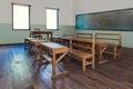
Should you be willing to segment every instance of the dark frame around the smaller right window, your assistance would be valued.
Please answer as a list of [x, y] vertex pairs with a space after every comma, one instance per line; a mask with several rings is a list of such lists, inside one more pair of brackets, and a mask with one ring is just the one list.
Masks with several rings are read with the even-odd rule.
[[[51, 31], [59, 30], [60, 29], [60, 27], [59, 27], [59, 11], [60, 11], [60, 9], [45, 7], [45, 17], [47, 17], [47, 9], [57, 10], [57, 29], [48, 29], [47, 28], [47, 22], [45, 22], [45, 29], [51, 30]], [[47, 18], [45, 18], [45, 20], [47, 20]]]

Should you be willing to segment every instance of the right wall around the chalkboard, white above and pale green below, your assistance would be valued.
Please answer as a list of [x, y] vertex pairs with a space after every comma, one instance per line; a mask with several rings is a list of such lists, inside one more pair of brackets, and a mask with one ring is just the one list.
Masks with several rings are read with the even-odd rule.
[[[91, 13], [119, 9], [133, 8], [133, 0], [75, 0], [73, 2], [74, 14]], [[122, 34], [122, 46], [133, 48], [133, 31], [102, 31], [102, 30], [75, 30], [76, 32], [112, 32]]]

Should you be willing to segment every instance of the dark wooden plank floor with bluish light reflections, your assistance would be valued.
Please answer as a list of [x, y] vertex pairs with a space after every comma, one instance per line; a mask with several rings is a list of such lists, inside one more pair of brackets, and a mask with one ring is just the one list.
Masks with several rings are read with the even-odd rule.
[[85, 72], [76, 60], [66, 60], [60, 67], [69, 77], [51, 81], [51, 65], [32, 66], [23, 44], [0, 47], [0, 89], [133, 89], [133, 49], [123, 49], [122, 59], [89, 67]]

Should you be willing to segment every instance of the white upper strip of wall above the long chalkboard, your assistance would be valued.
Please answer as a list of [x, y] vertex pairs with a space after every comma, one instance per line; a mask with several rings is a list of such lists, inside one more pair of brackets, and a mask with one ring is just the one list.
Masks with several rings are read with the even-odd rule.
[[74, 13], [90, 13], [133, 8], [133, 0], [76, 0]]

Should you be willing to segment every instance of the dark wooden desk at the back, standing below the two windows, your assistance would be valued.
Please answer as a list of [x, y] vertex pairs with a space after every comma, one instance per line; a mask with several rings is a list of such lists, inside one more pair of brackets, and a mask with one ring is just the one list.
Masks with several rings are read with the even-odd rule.
[[30, 31], [30, 37], [34, 38], [35, 34], [47, 34], [45, 39], [52, 38], [52, 31]]

